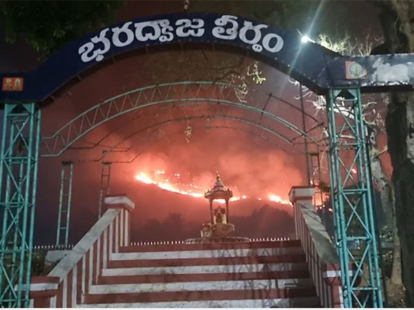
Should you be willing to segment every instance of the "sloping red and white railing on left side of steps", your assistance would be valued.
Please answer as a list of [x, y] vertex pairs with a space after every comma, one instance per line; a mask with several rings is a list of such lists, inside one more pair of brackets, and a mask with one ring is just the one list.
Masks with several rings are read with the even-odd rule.
[[105, 203], [105, 214], [48, 276], [32, 277], [31, 307], [71, 308], [83, 303], [112, 253], [130, 244], [130, 211], [134, 203], [126, 196], [108, 196]]

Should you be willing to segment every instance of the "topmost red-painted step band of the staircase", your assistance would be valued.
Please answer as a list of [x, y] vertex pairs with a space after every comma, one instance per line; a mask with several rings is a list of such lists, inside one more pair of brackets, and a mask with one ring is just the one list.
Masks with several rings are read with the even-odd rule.
[[169, 244], [169, 245], [129, 245], [120, 247], [120, 252], [149, 252], [149, 251], [190, 251], [202, 249], [257, 249], [258, 247], [300, 247], [300, 240], [287, 241], [256, 241], [233, 243], [204, 243], [199, 245]]

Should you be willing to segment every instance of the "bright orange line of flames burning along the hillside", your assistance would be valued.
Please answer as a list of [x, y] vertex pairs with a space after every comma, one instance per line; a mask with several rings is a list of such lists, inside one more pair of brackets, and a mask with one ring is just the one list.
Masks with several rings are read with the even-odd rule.
[[[171, 183], [170, 180], [165, 176], [166, 172], [163, 170], [157, 170], [154, 172], [155, 176], [151, 177], [150, 174], [146, 173], [146, 172], [139, 172], [136, 176], [135, 176], [135, 180], [138, 180], [141, 183], [145, 183], [145, 184], [150, 184], [150, 185], [157, 185], [157, 187], [159, 187], [160, 189], [164, 189], [168, 192], [173, 192], [173, 193], [177, 193], [177, 194], [181, 194], [181, 195], [187, 195], [187, 196], [192, 196], [195, 198], [203, 198], [204, 197], [204, 192], [198, 191], [195, 192], [192, 189], [201, 189], [201, 187], [197, 186], [197, 185], [193, 185], [193, 184], [183, 184], [183, 183]], [[180, 174], [174, 174], [174, 176], [176, 178], [181, 178]], [[161, 178], [161, 180], [159, 180]], [[188, 189], [181, 189], [181, 187], [190, 187], [192, 189], [188, 190]], [[230, 198], [230, 201], [239, 201], [239, 200], [244, 200], [250, 198], [246, 195], [241, 195], [241, 196], [233, 196], [232, 198]], [[262, 200], [262, 198], [257, 198], [257, 200]], [[282, 199], [280, 196], [277, 196], [275, 194], [268, 194], [268, 200], [269, 201], [273, 201], [275, 203], [280, 203], [282, 205], [292, 205], [292, 203], [290, 203], [290, 201], [288, 200], [284, 200]], [[226, 203], [226, 201], [224, 199], [216, 199], [215, 200], [217, 203]]]

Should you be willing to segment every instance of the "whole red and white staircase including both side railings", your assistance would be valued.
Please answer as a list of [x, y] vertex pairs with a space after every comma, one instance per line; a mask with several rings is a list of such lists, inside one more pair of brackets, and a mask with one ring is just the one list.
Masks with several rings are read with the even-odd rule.
[[293, 187], [298, 240], [130, 245], [125, 195], [48, 276], [30, 280], [30, 305], [73, 307], [343, 307], [339, 260], [312, 205]]

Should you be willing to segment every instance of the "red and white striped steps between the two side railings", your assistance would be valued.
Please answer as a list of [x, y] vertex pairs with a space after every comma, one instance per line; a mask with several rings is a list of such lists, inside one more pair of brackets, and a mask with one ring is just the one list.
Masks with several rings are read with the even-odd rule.
[[299, 241], [121, 247], [79, 306], [320, 307]]

